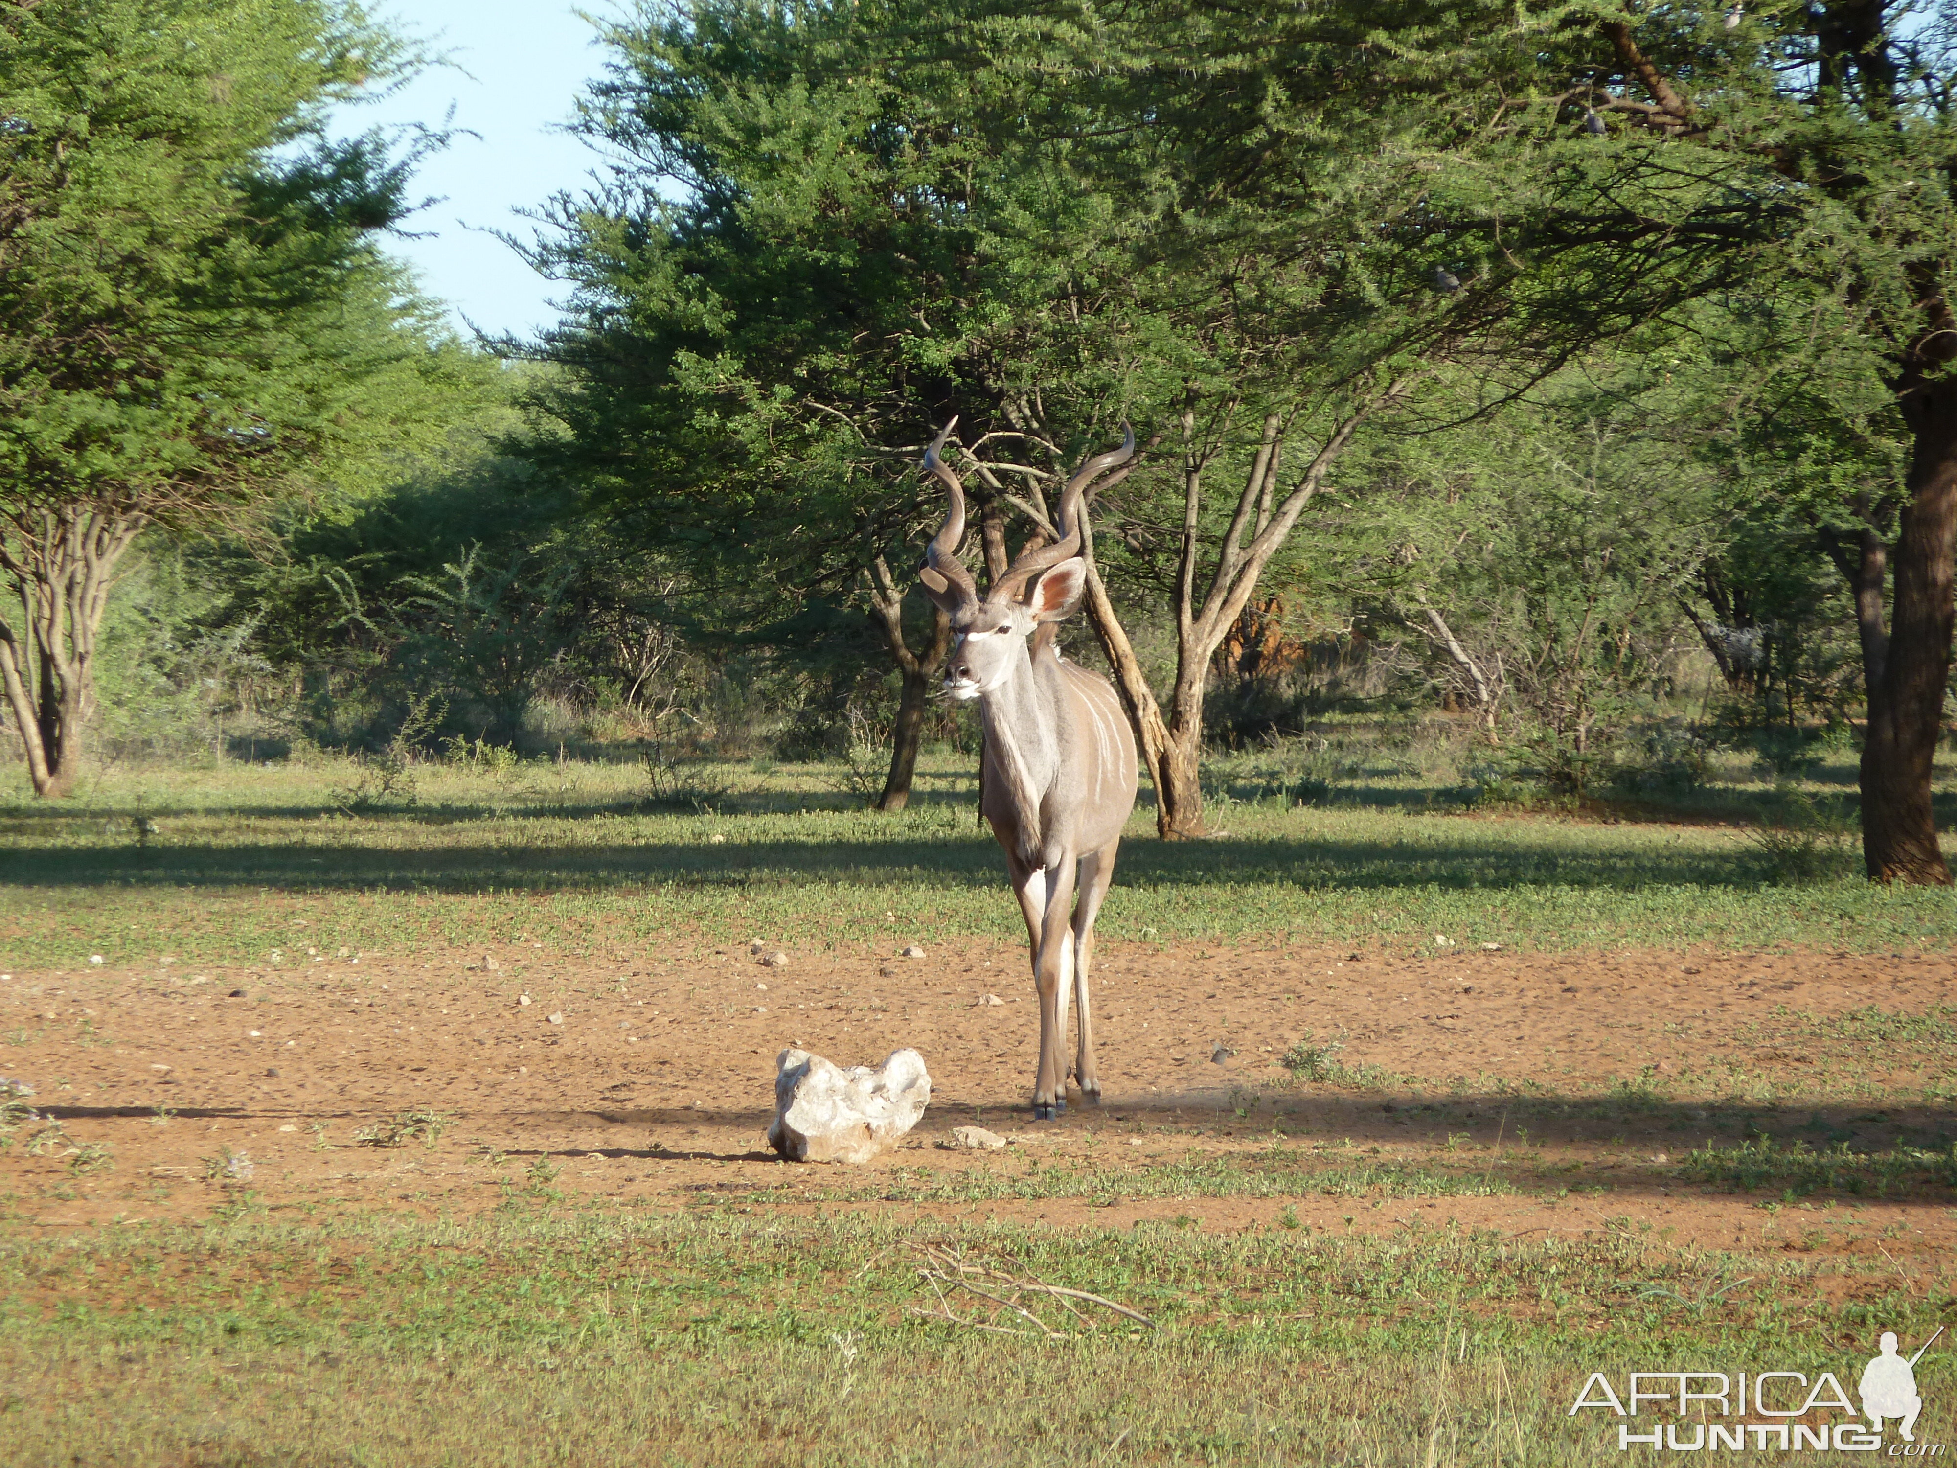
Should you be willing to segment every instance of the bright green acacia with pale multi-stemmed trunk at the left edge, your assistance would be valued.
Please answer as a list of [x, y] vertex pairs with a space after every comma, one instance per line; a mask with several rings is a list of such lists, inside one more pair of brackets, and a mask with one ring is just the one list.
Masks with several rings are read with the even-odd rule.
[[0, 2], [0, 685], [39, 795], [72, 789], [135, 538], [419, 397], [427, 321], [370, 245], [411, 157], [323, 131], [403, 61], [335, 0]]

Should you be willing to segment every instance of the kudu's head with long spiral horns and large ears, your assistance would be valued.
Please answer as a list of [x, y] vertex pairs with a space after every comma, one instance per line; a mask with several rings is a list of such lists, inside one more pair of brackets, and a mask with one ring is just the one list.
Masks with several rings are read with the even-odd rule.
[[939, 458], [945, 438], [957, 423], [951, 419], [924, 450], [924, 472], [945, 487], [949, 509], [945, 523], [924, 552], [924, 568], [918, 577], [924, 581], [924, 595], [951, 617], [957, 642], [945, 664], [945, 693], [965, 703], [990, 693], [1012, 677], [1033, 628], [1041, 622], [1059, 622], [1080, 603], [1080, 589], [1086, 585], [1088, 573], [1088, 566], [1080, 558], [1080, 527], [1086, 513], [1082, 497], [1096, 476], [1133, 458], [1135, 431], [1123, 425], [1119, 448], [1098, 454], [1074, 470], [1067, 487], [1061, 489], [1061, 503], [1053, 517], [1053, 528], [1061, 538], [1049, 546], [1022, 550], [1020, 558], [980, 601], [978, 585], [959, 562], [959, 540], [965, 538], [965, 485]]

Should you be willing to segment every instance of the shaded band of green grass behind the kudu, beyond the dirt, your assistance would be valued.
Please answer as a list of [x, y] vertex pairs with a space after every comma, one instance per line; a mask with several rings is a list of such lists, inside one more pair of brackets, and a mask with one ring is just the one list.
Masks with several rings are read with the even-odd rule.
[[[569, 763], [429, 765], [413, 804], [350, 816], [356, 777], [315, 757], [110, 771], [67, 803], [18, 795], [0, 806], [0, 947], [18, 965], [260, 963], [301, 918], [321, 947], [387, 951], [519, 934], [571, 951], [673, 934], [1020, 934], [959, 756], [928, 759], [898, 816], [849, 808], [824, 765], [708, 769], [703, 789], [728, 787], [714, 812], [650, 810], [634, 765]], [[1517, 949], [1957, 941], [1947, 891], [1781, 887], [1740, 830], [1462, 814], [1417, 775], [1331, 808], [1237, 801], [1213, 824], [1217, 840], [1162, 844], [1137, 810], [1102, 934], [1399, 951], [1433, 951], [1436, 934]]]

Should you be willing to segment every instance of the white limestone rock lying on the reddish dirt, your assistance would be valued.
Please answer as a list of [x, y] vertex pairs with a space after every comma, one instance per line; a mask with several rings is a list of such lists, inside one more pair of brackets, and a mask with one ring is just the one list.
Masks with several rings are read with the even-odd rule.
[[791, 1163], [867, 1163], [918, 1125], [932, 1077], [914, 1049], [847, 1071], [806, 1049], [775, 1061], [775, 1122], [767, 1145]]

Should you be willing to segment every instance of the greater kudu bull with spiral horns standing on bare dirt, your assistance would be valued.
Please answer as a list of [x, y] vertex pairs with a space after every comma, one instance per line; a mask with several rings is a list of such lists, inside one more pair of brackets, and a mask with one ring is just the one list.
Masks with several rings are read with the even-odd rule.
[[[1031, 938], [1039, 988], [1033, 1120], [1051, 1122], [1067, 1110], [1069, 990], [1080, 1000], [1074, 1078], [1084, 1102], [1100, 1102], [1088, 1004], [1094, 914], [1114, 881], [1114, 853], [1135, 808], [1139, 773], [1135, 740], [1114, 687], [1067, 662], [1053, 646], [1051, 624], [1074, 611], [1086, 581], [1082, 495], [1096, 476], [1135, 454], [1135, 435], [1127, 433], [1117, 450], [1080, 466], [1061, 491], [1053, 519], [1059, 540], [1022, 550], [980, 601], [971, 572], [957, 558], [965, 536], [965, 487], [939, 458], [955, 425], [951, 419], [924, 454], [926, 474], [945, 487], [949, 513], [918, 575], [957, 632], [945, 693], [977, 699], [984, 722], [980, 810], [1006, 848], [1006, 869]], [[1049, 630], [1035, 636], [1041, 626]]]

